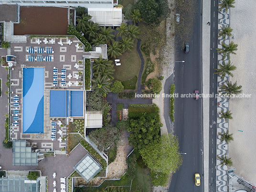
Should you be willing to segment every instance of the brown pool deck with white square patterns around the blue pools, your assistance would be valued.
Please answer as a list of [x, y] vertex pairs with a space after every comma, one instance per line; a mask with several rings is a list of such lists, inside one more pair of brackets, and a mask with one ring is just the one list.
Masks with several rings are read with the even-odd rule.
[[[85, 57], [85, 53], [83, 49], [75, 47], [77, 43], [80, 43], [80, 41], [77, 38], [53, 38], [55, 40], [54, 44], [44, 44], [43, 40], [44, 38], [39, 38], [42, 43], [37, 44], [35, 41], [38, 38], [32, 38], [27, 37], [26, 43], [11, 43], [11, 52], [8, 53], [9, 55], [16, 56], [17, 64], [14, 66], [14, 70], [11, 70], [11, 89], [13, 91], [13, 94], [11, 94], [11, 112], [12, 109], [15, 109], [15, 107], [12, 107], [13, 101], [12, 96], [18, 95], [19, 96], [19, 107], [16, 110], [19, 110], [19, 120], [18, 126], [12, 126], [10, 130], [10, 136], [11, 139], [27, 139], [31, 143], [32, 146], [37, 147], [38, 149], [56, 149], [60, 150], [65, 147], [65, 142], [62, 141], [61, 143], [57, 141], [57, 139], [60, 137], [60, 135], [56, 135], [56, 140], [51, 140], [51, 118], [54, 119], [54, 117], [50, 117], [50, 90], [83, 90], [83, 85], [75, 85], [75, 82], [82, 82], [81, 75], [79, 75], [78, 79], [74, 78], [75, 74], [83, 73], [84, 67], [83, 64], [79, 64], [78, 61], [83, 61], [83, 57]], [[49, 41], [51, 38], [48, 38]], [[62, 40], [63, 46], [58, 44]], [[67, 44], [67, 41], [70, 40], [73, 43], [71, 45]], [[26, 52], [28, 47], [34, 47], [35, 49], [37, 47], [50, 47], [53, 48], [54, 53], [47, 54], [47, 53], [28, 53]], [[37, 56], [37, 55], [51, 55], [53, 56], [53, 62], [30, 62], [27, 61], [27, 58], [29, 55]], [[78, 64], [78, 68], [75, 68], [75, 64]], [[44, 133], [37, 134], [37, 133], [22, 133], [22, 77], [23, 77], [23, 68], [26, 67], [42, 67], [44, 68]], [[53, 67], [58, 68], [58, 86], [53, 86]], [[61, 69], [66, 68], [66, 76], [71, 74], [72, 77], [69, 79], [66, 77], [66, 85], [61, 86]], [[68, 86], [68, 82], [71, 82], [72, 85]], [[62, 119], [63, 117], [61, 117]], [[64, 122], [66, 119], [64, 118]], [[13, 119], [11, 117], [11, 123], [13, 123]], [[64, 123], [63, 122], [63, 123]], [[65, 126], [63, 128], [60, 128], [57, 126], [58, 129], [61, 129], [63, 131], [63, 136], [65, 136], [66, 128]]]

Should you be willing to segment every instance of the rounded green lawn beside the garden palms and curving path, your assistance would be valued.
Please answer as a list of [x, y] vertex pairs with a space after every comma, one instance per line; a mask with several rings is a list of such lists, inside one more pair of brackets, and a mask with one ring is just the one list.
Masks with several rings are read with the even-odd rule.
[[132, 51], [126, 51], [125, 53], [117, 57], [117, 59], [120, 59], [121, 65], [114, 66], [116, 70], [114, 73], [115, 80], [127, 81], [133, 78], [134, 76], [138, 77], [139, 69], [141, 66], [141, 60], [139, 58], [139, 53], [137, 52], [136, 49], [137, 42], [138, 40], [136, 39], [134, 41]]

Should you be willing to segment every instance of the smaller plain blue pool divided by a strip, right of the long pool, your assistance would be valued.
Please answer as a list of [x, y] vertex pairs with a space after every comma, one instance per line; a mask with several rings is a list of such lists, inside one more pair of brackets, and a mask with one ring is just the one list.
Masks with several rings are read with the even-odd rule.
[[84, 92], [70, 90], [50, 91], [50, 117], [83, 117]]

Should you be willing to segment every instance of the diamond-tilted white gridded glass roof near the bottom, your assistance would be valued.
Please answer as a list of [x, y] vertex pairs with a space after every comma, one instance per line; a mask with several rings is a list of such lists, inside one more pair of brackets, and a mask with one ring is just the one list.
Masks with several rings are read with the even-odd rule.
[[102, 167], [87, 153], [85, 157], [75, 165], [74, 169], [86, 182], [89, 182], [100, 170], [102, 170]]

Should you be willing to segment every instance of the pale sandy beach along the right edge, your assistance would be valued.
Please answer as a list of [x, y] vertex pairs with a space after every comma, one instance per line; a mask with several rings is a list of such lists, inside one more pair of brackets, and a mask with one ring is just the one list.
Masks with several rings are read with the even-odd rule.
[[230, 100], [233, 119], [229, 130], [234, 141], [229, 144], [229, 157], [235, 173], [256, 185], [256, 1], [236, 0], [235, 8], [230, 9], [230, 26], [235, 34], [231, 41], [238, 44], [237, 54], [231, 54], [237, 67], [231, 81], [242, 85], [243, 93], [251, 98]]

